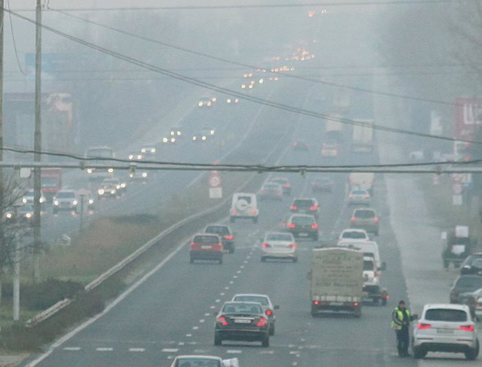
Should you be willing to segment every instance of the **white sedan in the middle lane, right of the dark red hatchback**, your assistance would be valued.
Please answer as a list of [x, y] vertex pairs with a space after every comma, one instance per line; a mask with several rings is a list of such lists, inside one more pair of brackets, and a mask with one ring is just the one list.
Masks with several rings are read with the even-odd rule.
[[291, 233], [266, 233], [261, 244], [261, 261], [265, 262], [266, 259], [287, 259], [297, 262], [296, 248], [297, 244]]

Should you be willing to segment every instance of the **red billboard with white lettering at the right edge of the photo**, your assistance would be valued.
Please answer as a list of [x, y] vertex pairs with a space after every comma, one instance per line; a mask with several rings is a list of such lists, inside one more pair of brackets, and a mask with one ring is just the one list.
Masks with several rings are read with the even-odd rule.
[[473, 140], [476, 130], [482, 127], [482, 99], [457, 98], [455, 100], [454, 138]]

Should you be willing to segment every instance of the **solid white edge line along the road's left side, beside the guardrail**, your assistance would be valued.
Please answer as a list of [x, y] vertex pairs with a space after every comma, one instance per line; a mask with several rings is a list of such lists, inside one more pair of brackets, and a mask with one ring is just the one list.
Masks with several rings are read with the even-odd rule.
[[158, 271], [159, 269], [161, 269], [163, 266], [165, 266], [165, 264], [167, 264], [167, 262], [169, 262], [172, 258], [174, 258], [174, 256], [179, 252], [181, 251], [181, 249], [184, 248], [185, 246], [185, 243], [187, 242], [187, 239], [186, 240], [182, 240], [180, 242], [180, 245], [174, 249], [174, 251], [172, 251], [171, 253], [169, 253], [169, 255], [167, 255], [167, 257], [161, 261], [154, 269], [152, 269], [151, 271], [149, 271], [147, 274], [145, 274], [143, 277], [140, 278], [140, 280], [138, 280], [137, 282], [135, 282], [134, 284], [132, 284], [132, 286], [129, 286], [128, 289], [125, 290], [124, 293], [122, 293], [120, 296], [118, 296], [116, 298], [116, 300], [112, 301], [112, 303], [110, 303], [107, 307], [104, 308], [104, 311], [102, 311], [101, 313], [98, 313], [97, 315], [91, 317], [90, 319], [88, 319], [86, 322], [84, 322], [83, 324], [77, 326], [76, 328], [74, 328], [74, 330], [72, 330], [70, 333], [67, 333], [65, 334], [63, 337], [61, 337], [59, 340], [57, 340], [54, 344], [52, 344], [52, 346], [50, 346], [49, 350], [45, 353], [43, 353], [43, 355], [40, 355], [39, 358], [35, 359], [34, 361], [31, 361], [30, 364], [27, 365], [27, 367], [34, 367], [36, 366], [37, 364], [39, 364], [41, 361], [43, 361], [43, 359], [47, 358], [49, 355], [52, 354], [52, 352], [54, 351], [55, 348], [58, 348], [59, 346], [61, 346], [62, 344], [64, 344], [65, 342], [67, 342], [67, 340], [69, 340], [70, 338], [74, 337], [74, 335], [80, 333], [81, 331], [83, 331], [83, 329], [85, 329], [87, 326], [89, 326], [90, 324], [93, 324], [94, 322], [96, 322], [98, 319], [100, 319], [103, 315], [105, 315], [106, 313], [108, 313], [110, 310], [112, 310], [112, 308], [114, 308], [115, 306], [117, 306], [121, 301], [123, 301], [125, 299], [125, 297], [127, 297], [130, 293], [132, 293], [135, 289], [138, 288], [138, 286], [140, 286], [141, 284], [143, 284], [146, 280], [149, 279], [149, 277], [151, 277], [154, 273], [156, 273], [156, 271]]

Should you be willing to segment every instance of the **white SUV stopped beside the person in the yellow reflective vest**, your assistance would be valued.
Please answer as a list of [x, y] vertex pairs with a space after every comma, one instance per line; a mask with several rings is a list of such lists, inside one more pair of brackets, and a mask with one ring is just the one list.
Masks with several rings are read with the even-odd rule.
[[412, 337], [414, 358], [428, 352], [464, 353], [474, 360], [479, 355], [477, 325], [466, 304], [426, 304]]

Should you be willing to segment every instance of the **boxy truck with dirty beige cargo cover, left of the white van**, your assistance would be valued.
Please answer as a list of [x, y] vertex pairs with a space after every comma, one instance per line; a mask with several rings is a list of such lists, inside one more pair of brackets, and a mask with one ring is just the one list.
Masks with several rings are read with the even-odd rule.
[[339, 247], [313, 250], [311, 264], [311, 315], [348, 313], [362, 315], [362, 251]]

